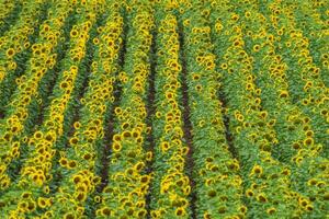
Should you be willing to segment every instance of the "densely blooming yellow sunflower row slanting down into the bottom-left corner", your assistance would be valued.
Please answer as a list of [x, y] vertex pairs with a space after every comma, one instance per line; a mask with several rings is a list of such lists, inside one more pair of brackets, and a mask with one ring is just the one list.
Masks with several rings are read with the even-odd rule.
[[[86, 5], [86, 9], [83, 5], [77, 7], [77, 10], [83, 13], [79, 18], [79, 23], [71, 30], [69, 53], [63, 60], [63, 70], [54, 88], [52, 104], [46, 111], [47, 114], [39, 130], [36, 130], [27, 140], [29, 157], [22, 168], [21, 177], [18, 184], [12, 186], [11, 193], [7, 194], [7, 196], [12, 195], [13, 191], [16, 193], [11, 197], [15, 199], [10, 197], [7, 199], [9, 206], [4, 210], [8, 210], [9, 215], [22, 217], [35, 215], [36, 210], [39, 214], [39, 210], [49, 207], [52, 203], [47, 194], [50, 189], [49, 182], [53, 180], [52, 169], [56, 142], [64, 135], [64, 115], [70, 104], [72, 92], [79, 87], [81, 72], [79, 67], [86, 54], [89, 31], [95, 20], [97, 12], [89, 12], [88, 7], [90, 5]], [[22, 199], [18, 200], [18, 196]]]

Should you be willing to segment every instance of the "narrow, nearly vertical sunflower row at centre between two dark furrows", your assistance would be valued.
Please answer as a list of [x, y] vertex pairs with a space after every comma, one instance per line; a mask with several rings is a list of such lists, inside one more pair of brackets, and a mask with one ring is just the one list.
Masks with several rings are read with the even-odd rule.
[[151, 218], [189, 218], [190, 180], [185, 174], [189, 148], [183, 139], [181, 112], [182, 67], [179, 64], [177, 18], [157, 8], [156, 113], [152, 119], [155, 161]]

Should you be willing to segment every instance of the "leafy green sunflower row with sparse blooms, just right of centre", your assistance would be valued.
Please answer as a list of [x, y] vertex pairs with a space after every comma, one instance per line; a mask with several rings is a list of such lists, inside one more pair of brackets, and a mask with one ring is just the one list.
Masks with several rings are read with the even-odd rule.
[[191, 111], [196, 218], [245, 217], [240, 164], [226, 139], [208, 25], [209, 10], [196, 1], [183, 15], [184, 56]]

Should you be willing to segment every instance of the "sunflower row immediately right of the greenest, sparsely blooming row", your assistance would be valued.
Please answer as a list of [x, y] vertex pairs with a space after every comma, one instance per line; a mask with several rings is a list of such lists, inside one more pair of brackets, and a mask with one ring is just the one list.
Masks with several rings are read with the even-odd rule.
[[[226, 3], [229, 8], [231, 2]], [[232, 9], [238, 5], [243, 2], [232, 3]], [[298, 198], [305, 197], [291, 188], [290, 166], [272, 157], [273, 148], [279, 143], [273, 128], [275, 120], [262, 106], [262, 91], [257, 87], [258, 78], [253, 72], [254, 59], [246, 50], [239, 14], [232, 10], [220, 22], [225, 27], [220, 33], [229, 44], [220, 65], [223, 90], [228, 100], [234, 145], [242, 166], [247, 216], [292, 217], [302, 214], [307, 209], [298, 205]], [[220, 45], [219, 41], [217, 43]], [[220, 47], [215, 46], [215, 50], [223, 54]]]

